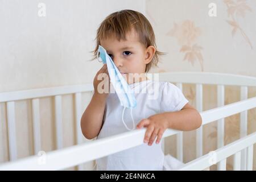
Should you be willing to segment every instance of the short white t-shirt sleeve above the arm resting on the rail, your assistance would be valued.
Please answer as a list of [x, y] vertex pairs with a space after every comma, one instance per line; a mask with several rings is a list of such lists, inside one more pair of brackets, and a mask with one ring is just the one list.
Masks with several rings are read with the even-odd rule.
[[164, 82], [162, 97], [160, 101], [160, 111], [179, 111], [188, 103], [187, 98], [181, 90], [170, 82]]

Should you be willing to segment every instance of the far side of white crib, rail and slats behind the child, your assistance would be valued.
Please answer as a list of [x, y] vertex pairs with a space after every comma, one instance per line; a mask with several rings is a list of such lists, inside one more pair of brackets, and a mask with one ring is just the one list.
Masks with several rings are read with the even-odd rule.
[[[225, 73], [209, 73], [209, 72], [173, 72], [173, 73], [159, 73], [160, 81], [170, 81], [176, 83], [176, 85], [183, 89], [183, 84], [196, 84], [196, 109], [203, 112], [203, 84], [217, 85], [217, 106], [220, 108], [224, 106], [224, 93], [225, 85], [234, 85], [241, 87], [241, 100], [247, 99], [248, 86], [256, 86], [256, 78], [241, 75], [232, 75]], [[61, 102], [64, 94], [75, 95], [75, 116], [76, 116], [76, 144], [82, 143], [82, 134], [80, 129], [81, 118], [81, 93], [92, 92], [93, 85], [70, 85], [59, 86], [54, 88], [42, 88], [32, 90], [21, 90], [15, 92], [3, 92], [0, 93], [0, 102], [6, 102], [7, 109], [7, 129], [9, 139], [9, 156], [10, 161], [17, 159], [16, 148], [16, 132], [15, 132], [15, 101], [18, 100], [30, 100], [32, 102], [32, 125], [33, 125], [33, 137], [34, 137], [34, 154], [38, 154], [41, 150], [41, 138], [40, 138], [40, 108], [39, 102], [42, 97], [54, 97], [55, 101], [55, 125], [56, 125], [56, 146], [57, 149], [63, 148], [63, 126], [62, 126], [62, 110]], [[213, 115], [214, 117], [214, 115]], [[225, 120], [224, 117], [217, 121], [217, 145], [218, 148], [224, 146], [224, 129]], [[240, 137], [247, 135], [247, 110], [243, 110], [240, 113]], [[183, 132], [177, 133], [177, 158], [183, 161]], [[164, 142], [163, 148], [164, 148]], [[241, 152], [241, 169], [246, 169], [246, 149]], [[203, 155], [203, 127], [196, 130], [196, 156], [199, 158]], [[220, 168], [218, 165], [218, 168]], [[82, 169], [79, 166], [79, 169]]]

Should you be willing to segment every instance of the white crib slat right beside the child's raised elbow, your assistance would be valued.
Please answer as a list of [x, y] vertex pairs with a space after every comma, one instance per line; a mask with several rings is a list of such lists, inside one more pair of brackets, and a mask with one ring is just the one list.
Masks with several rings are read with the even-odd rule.
[[[81, 133], [81, 93], [75, 93], [75, 112], [76, 112], [76, 143], [82, 143], [82, 133]], [[83, 166], [80, 164], [77, 169], [83, 171]]]

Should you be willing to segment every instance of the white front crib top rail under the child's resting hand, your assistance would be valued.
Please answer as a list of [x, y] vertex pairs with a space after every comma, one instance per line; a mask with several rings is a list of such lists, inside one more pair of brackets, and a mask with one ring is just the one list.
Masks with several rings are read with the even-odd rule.
[[[235, 102], [233, 104], [217, 107], [201, 112], [203, 119], [202, 125], [216, 121], [230, 115], [240, 113], [244, 110], [249, 110], [256, 107], [256, 97], [249, 98], [247, 100]], [[126, 133], [114, 135], [112, 137], [102, 138], [87, 142], [77, 146], [72, 146], [52, 152], [48, 152], [46, 156], [43, 156], [46, 163], [39, 164], [39, 159], [42, 156], [30, 156], [26, 159], [19, 159], [14, 162], [7, 162], [0, 166], [0, 170], [58, 170], [68, 167], [76, 166], [84, 162], [89, 162], [94, 159], [101, 158], [115, 152], [126, 150], [131, 147], [139, 146], [143, 144], [143, 137], [146, 129], [129, 131]], [[181, 131], [168, 129], [164, 132], [163, 138], [168, 137]], [[253, 135], [254, 136], [254, 135]], [[141, 140], [139, 140], [140, 138]], [[241, 139], [243, 141], [244, 139]], [[247, 140], [253, 140], [255, 143], [255, 136], [246, 138]], [[240, 141], [240, 143], [242, 143]], [[251, 144], [251, 143], [250, 143]], [[243, 145], [242, 147], [247, 147]], [[104, 149], [104, 150], [102, 150]], [[250, 150], [251, 152], [251, 150]], [[220, 153], [221, 154], [221, 153]], [[220, 155], [219, 154], [219, 155]], [[221, 158], [222, 159], [222, 158]], [[205, 164], [204, 164], [205, 166]]]

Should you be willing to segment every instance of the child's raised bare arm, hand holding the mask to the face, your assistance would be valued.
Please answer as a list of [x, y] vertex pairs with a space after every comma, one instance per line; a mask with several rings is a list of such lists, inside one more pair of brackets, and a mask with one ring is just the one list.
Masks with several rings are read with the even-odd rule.
[[[98, 80], [98, 76], [101, 73], [107, 73], [107, 75], [105, 76], [108, 76], [106, 64], [100, 69], [100, 71], [97, 72], [96, 76], [94, 77], [94, 94], [92, 100], [90, 101], [90, 104], [86, 107], [86, 110], [81, 117], [82, 134], [87, 139], [93, 139], [97, 137], [100, 133], [103, 123], [104, 110], [108, 93], [98, 92], [98, 84], [102, 82], [102, 80]], [[109, 77], [107, 79], [105, 78], [106, 77], [104, 77], [104, 83], [110, 84]]]

